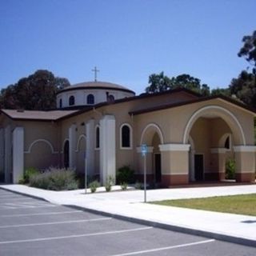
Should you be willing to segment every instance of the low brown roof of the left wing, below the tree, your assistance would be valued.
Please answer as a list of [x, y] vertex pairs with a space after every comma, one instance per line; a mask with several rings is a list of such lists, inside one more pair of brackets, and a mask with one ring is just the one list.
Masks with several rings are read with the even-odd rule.
[[57, 121], [66, 115], [74, 114], [78, 110], [1, 110], [0, 113], [6, 114], [7, 117], [14, 120], [31, 120], [31, 121]]

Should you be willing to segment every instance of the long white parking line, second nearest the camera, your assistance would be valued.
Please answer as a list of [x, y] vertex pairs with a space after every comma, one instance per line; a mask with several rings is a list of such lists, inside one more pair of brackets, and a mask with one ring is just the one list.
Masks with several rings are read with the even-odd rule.
[[62, 236], [62, 237], [2, 241], [2, 242], [0, 242], [0, 245], [10, 244], [10, 243], [21, 243], [21, 242], [41, 242], [41, 241], [49, 241], [49, 240], [61, 240], [61, 239], [67, 239], [67, 238], [93, 237], [93, 236], [97, 236], [97, 235], [106, 235], [106, 234], [121, 234], [121, 233], [135, 232], [135, 231], [141, 231], [141, 230], [150, 230], [152, 228], [153, 228], [152, 226], [146, 226], [146, 227], [130, 229], [130, 230], [113, 230], [113, 231], [90, 233], [90, 234], [72, 234], [72, 235], [66, 235], [66, 236]]

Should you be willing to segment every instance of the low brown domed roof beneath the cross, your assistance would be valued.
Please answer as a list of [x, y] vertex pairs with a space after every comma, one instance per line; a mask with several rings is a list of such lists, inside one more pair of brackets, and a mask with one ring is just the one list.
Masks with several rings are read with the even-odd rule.
[[105, 89], [105, 90], [121, 90], [131, 94], [135, 94], [133, 90], [130, 90], [124, 86], [112, 82], [80, 82], [73, 86], [68, 86], [63, 90], [60, 90], [57, 94], [60, 94], [69, 90], [91, 90], [91, 89]]

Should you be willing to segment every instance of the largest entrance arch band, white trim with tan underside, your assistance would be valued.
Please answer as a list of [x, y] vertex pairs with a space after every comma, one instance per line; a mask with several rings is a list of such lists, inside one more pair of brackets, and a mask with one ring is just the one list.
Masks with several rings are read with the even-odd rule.
[[190, 136], [190, 130], [194, 125], [194, 122], [196, 122], [197, 119], [202, 117], [204, 114], [218, 114], [218, 117], [222, 118], [228, 124], [230, 124], [230, 122], [233, 123], [233, 126], [230, 126], [230, 129], [235, 131], [235, 134], [238, 134], [238, 141], [240, 145], [246, 145], [245, 134], [242, 130], [240, 122], [238, 121], [238, 118], [236, 118], [234, 114], [230, 112], [230, 110], [226, 110], [222, 106], [204, 106], [201, 109], [197, 110], [190, 117], [190, 120], [186, 124], [186, 128], [183, 134], [183, 144], [186, 144], [186, 142], [188, 141]]

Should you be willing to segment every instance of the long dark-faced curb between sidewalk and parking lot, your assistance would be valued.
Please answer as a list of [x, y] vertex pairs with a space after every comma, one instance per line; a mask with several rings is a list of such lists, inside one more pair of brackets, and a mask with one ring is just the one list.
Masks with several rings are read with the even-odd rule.
[[[46, 200], [45, 198], [42, 198], [39, 196], [34, 196], [31, 194], [26, 194], [24, 192], [18, 192], [18, 191], [10, 190], [8, 188], [3, 188], [3, 187], [0, 187], [0, 189], [13, 192], [14, 194], [21, 194], [21, 195], [28, 196], [30, 198], [35, 198], [35, 199], [39, 199], [39, 200], [42, 200], [45, 202], [57, 204], [56, 202], [51, 202], [50, 200]], [[149, 221], [149, 220], [145, 220], [142, 218], [127, 217], [127, 216], [124, 216], [121, 214], [111, 214], [109, 212], [105, 212], [102, 210], [94, 210], [94, 209], [90, 209], [90, 208], [86, 208], [86, 207], [82, 207], [82, 206], [65, 205], [65, 204], [63, 204], [61, 206], [66, 206], [66, 207], [74, 208], [77, 210], [84, 210], [84, 211], [87, 211], [92, 214], [100, 214], [102, 216], [117, 218], [117, 219], [120, 219], [123, 221], [134, 222], [134, 223], [141, 224], [141, 225], [154, 226], [154, 227], [161, 228], [164, 230], [171, 230], [171, 231], [180, 232], [183, 234], [193, 234], [193, 235], [198, 235], [198, 236], [202, 236], [205, 238], [214, 238], [216, 240], [223, 241], [223, 242], [233, 242], [236, 244], [240, 244], [242, 246], [256, 247], [256, 241], [249, 239], [249, 238], [238, 238], [238, 237], [234, 237], [234, 236], [231, 236], [228, 234], [219, 234], [219, 233], [214, 233], [214, 232], [205, 231], [205, 230], [194, 230], [192, 228], [185, 227], [185, 226], [175, 226], [175, 225], [170, 225], [170, 224], [164, 224], [161, 222]]]

